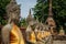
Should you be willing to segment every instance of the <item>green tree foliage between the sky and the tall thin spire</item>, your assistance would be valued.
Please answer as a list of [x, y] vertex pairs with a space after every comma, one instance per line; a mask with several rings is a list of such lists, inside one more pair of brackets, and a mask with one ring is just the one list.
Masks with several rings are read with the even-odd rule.
[[48, 1], [47, 0], [37, 0], [34, 10], [34, 18], [38, 16], [38, 20], [44, 22], [48, 14]]

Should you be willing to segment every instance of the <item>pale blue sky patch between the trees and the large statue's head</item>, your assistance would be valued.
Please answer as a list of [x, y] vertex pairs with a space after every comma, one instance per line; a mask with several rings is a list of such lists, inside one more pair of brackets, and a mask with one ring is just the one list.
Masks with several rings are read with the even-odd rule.
[[21, 18], [26, 18], [31, 8], [34, 8], [36, 0], [16, 0], [21, 4]]

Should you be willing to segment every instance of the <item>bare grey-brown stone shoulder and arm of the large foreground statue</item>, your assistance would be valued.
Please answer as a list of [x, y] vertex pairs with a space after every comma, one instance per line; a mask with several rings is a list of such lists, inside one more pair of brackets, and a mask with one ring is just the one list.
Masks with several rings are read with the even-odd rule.
[[2, 30], [1, 30], [1, 35], [2, 35], [2, 42], [9, 44], [9, 36], [10, 36], [10, 31], [12, 26], [11, 24], [6, 24]]

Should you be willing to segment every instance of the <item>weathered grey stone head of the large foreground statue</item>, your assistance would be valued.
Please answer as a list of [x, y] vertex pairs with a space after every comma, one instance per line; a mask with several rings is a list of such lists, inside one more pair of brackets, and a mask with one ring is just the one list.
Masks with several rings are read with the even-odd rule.
[[14, 20], [19, 21], [20, 20], [20, 6], [16, 4], [15, 0], [11, 0], [10, 3], [7, 6], [7, 13], [9, 21]]

